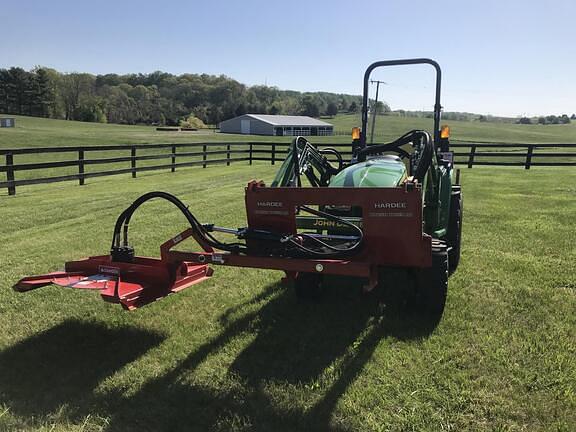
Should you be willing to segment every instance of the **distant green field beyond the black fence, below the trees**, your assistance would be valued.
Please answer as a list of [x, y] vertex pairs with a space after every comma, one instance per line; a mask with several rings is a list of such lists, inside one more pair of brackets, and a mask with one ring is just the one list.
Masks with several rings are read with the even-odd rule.
[[[188, 142], [279, 141], [287, 137], [219, 134], [213, 131], [158, 132], [152, 126], [125, 126], [52, 120], [24, 116], [16, 118], [15, 128], [0, 129], [0, 146], [53, 147], [113, 144], [158, 144]], [[360, 115], [338, 115], [324, 119], [337, 131], [351, 131], [360, 126]], [[495, 141], [512, 143], [574, 143], [576, 122], [568, 125], [517, 125], [447, 121], [454, 140]], [[410, 129], [432, 129], [432, 120], [394, 116], [379, 116], [376, 133], [382, 140], [392, 140]], [[289, 138], [288, 138], [289, 141]], [[315, 142], [350, 142], [350, 136], [314, 137]]]

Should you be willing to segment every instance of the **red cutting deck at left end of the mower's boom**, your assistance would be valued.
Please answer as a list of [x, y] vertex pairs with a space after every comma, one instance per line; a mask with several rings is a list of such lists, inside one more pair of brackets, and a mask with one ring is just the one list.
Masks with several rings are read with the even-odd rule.
[[66, 263], [64, 272], [29, 276], [14, 289], [30, 291], [46, 285], [100, 291], [105, 301], [133, 310], [206, 280], [212, 269], [205, 264], [179, 265], [153, 258], [135, 257], [133, 262], [113, 262], [110, 255], [93, 256]]

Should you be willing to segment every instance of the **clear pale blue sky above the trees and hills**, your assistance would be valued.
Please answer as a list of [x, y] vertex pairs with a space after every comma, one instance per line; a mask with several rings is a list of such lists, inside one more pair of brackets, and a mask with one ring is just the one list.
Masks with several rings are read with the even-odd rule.
[[[0, 67], [225, 74], [360, 94], [376, 60], [430, 57], [447, 111], [576, 112], [576, 0], [0, 1]], [[429, 67], [375, 76], [392, 108], [429, 109]]]

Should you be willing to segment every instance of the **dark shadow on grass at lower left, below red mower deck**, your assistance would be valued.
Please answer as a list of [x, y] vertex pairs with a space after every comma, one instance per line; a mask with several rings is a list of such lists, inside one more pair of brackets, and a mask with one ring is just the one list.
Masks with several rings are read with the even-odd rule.
[[64, 321], [0, 353], [0, 396], [17, 415], [62, 408], [70, 419], [98, 410], [94, 389], [162, 342], [162, 335], [95, 322]]

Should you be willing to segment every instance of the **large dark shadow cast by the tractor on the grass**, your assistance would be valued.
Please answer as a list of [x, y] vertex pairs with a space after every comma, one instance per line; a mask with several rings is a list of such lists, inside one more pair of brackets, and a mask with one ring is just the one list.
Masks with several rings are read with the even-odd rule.
[[[228, 310], [221, 318], [225, 330], [219, 336], [124, 400], [113, 413], [108, 432], [335, 430], [330, 424], [335, 406], [379, 341], [396, 333], [402, 339], [425, 336], [406, 328], [412, 323], [375, 317], [372, 300], [336, 286], [324, 301], [304, 303], [291, 290], [271, 285]], [[239, 384], [210, 386], [190, 379], [209, 356], [246, 332], [256, 337], [229, 367], [229, 375]], [[264, 390], [270, 384], [292, 388], [312, 384], [335, 361], [337, 377], [309, 409], [298, 403], [280, 406]]]

